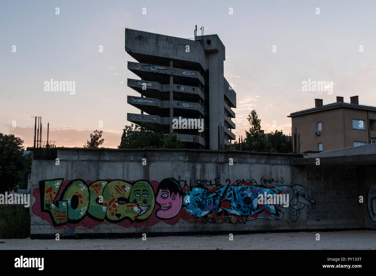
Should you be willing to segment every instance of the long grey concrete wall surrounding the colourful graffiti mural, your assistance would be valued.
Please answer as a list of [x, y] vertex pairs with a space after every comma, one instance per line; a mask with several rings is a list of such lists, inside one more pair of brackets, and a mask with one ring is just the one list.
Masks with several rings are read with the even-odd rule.
[[[32, 237], [55, 233], [94, 235], [361, 228], [365, 227], [368, 216], [365, 205], [358, 207], [355, 203], [357, 193], [366, 189], [357, 183], [358, 172], [355, 167], [317, 168], [319, 166], [290, 165], [291, 160], [302, 158], [300, 154], [192, 149], [59, 148], [58, 158], [59, 165], [53, 160], [33, 161], [30, 187]], [[146, 165], [143, 165], [143, 159], [146, 160]], [[229, 165], [231, 159], [233, 165]], [[56, 226], [48, 213], [42, 210], [38, 195], [39, 181], [57, 178], [64, 178], [64, 181], [147, 180], [153, 186], [154, 193], [157, 191], [158, 183], [165, 178], [174, 178], [184, 193], [190, 186], [201, 187], [209, 192], [215, 192], [223, 186], [240, 187], [233, 188], [234, 191], [246, 186], [263, 185], [265, 189], [275, 186], [283, 187], [285, 192], [289, 191], [291, 198], [294, 195], [293, 190], [299, 190], [299, 198], [305, 203], [300, 206], [300, 203], [293, 203], [294, 199], [290, 198], [293, 200], [290, 207], [278, 209], [276, 214], [266, 215], [267, 212], [262, 212], [253, 217], [235, 216], [226, 212], [217, 215], [213, 211], [194, 218], [182, 207], [179, 214], [169, 220], [156, 218], [158, 205], [155, 204], [153, 214], [142, 222], [124, 220], [109, 223], [85, 217], [79, 223], [68, 222]], [[60, 195], [61, 192], [58, 193], [58, 196]], [[368, 222], [367, 227], [375, 228], [375, 224], [371, 222]]]

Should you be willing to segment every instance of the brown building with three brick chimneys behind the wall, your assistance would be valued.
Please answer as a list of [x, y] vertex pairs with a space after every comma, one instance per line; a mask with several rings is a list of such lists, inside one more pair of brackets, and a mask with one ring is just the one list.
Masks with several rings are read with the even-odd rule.
[[359, 105], [359, 96], [350, 97], [350, 102], [338, 96], [336, 102], [326, 105], [322, 99], [315, 99], [315, 107], [287, 117], [291, 117], [293, 132], [296, 128], [296, 133], [300, 134], [300, 152], [376, 143], [376, 107]]

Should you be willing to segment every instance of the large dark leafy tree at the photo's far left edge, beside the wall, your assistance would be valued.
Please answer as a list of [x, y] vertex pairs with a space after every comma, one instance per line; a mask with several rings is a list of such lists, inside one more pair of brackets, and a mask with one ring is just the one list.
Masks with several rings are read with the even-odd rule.
[[24, 146], [20, 137], [0, 133], [0, 193], [10, 192], [18, 187], [25, 174]]

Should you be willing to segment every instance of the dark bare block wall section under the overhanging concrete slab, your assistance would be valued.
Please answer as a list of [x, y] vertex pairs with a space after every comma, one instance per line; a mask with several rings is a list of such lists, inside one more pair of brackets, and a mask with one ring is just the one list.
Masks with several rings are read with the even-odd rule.
[[[307, 210], [307, 219], [336, 228], [375, 228], [367, 207], [367, 194], [375, 180], [374, 169], [364, 166], [306, 166], [308, 195], [316, 207]], [[368, 181], [364, 181], [368, 179]], [[373, 178], [374, 179], [374, 178]], [[360, 203], [359, 197], [363, 197]]]

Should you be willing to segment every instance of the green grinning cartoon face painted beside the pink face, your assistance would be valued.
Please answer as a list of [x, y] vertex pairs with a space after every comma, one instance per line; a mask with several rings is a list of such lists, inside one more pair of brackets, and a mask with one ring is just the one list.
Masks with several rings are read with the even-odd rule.
[[155, 195], [152, 186], [147, 181], [139, 180], [133, 183], [130, 191], [129, 202], [138, 204], [141, 208], [137, 219], [149, 218], [154, 209]]

